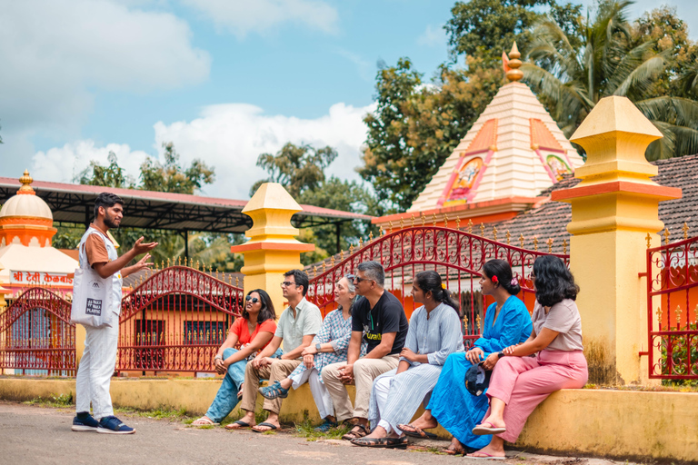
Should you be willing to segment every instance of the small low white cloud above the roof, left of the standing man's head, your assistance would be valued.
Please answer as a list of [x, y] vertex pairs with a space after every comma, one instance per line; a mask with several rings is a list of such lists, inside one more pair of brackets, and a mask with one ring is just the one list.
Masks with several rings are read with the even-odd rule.
[[104, 147], [95, 147], [92, 140], [77, 141], [46, 152], [35, 153], [30, 173], [32, 177], [41, 181], [72, 183], [75, 175], [85, 170], [90, 162], [108, 164], [109, 152], [115, 153], [119, 166], [134, 178], [139, 173], [138, 167], [148, 156], [140, 150], [132, 151], [125, 143], [109, 143]]

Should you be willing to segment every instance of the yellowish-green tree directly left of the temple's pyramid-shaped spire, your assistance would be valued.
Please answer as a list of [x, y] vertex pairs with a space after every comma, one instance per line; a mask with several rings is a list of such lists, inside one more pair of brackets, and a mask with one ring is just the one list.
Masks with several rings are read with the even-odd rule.
[[407, 58], [378, 73], [358, 173], [394, 211], [412, 205], [503, 84], [499, 66], [471, 56], [466, 63], [466, 69], [442, 65], [431, 85], [423, 85]]

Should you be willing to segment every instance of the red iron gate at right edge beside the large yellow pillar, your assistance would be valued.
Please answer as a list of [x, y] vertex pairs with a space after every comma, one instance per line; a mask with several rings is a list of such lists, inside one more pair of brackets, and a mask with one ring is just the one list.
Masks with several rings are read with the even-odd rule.
[[698, 237], [648, 248], [646, 275], [650, 378], [698, 380]]

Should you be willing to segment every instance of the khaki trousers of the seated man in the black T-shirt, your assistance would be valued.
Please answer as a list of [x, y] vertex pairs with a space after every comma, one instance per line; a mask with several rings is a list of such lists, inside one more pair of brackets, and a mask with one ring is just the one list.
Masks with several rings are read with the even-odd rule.
[[348, 418], [368, 418], [368, 406], [371, 401], [371, 388], [374, 379], [385, 371], [391, 371], [397, 367], [400, 355], [387, 355], [382, 359], [359, 359], [354, 361], [354, 384], [356, 397], [354, 408], [349, 400], [349, 393], [344, 383], [339, 379], [339, 369], [346, 365], [345, 361], [333, 363], [323, 368], [323, 381], [327, 391], [330, 392], [334, 403], [334, 413], [337, 421]]

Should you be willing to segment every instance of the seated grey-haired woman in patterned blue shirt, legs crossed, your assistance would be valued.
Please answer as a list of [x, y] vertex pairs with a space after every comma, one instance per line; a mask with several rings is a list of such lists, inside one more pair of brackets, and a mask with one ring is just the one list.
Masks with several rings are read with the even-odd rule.
[[[286, 397], [292, 386], [298, 389], [307, 382], [320, 418], [323, 419], [323, 423], [315, 428], [321, 432], [337, 426], [332, 397], [324, 387], [322, 371], [331, 363], [346, 361], [349, 341], [352, 338], [352, 308], [356, 302], [354, 275], [347, 274], [334, 284], [334, 302], [337, 303], [337, 309], [327, 313], [322, 328], [315, 334], [313, 342], [302, 352], [303, 363], [285, 380], [259, 388], [266, 399], [276, 399]], [[365, 353], [364, 342], [361, 345], [361, 356]]]

